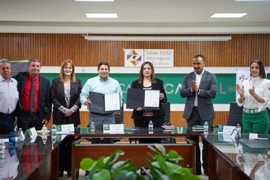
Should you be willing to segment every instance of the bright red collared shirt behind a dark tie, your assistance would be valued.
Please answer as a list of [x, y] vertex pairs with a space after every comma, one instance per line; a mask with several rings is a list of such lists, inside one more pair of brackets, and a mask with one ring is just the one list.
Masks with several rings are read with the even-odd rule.
[[[25, 82], [25, 86], [22, 93], [22, 109], [26, 111], [31, 111], [30, 109], [30, 99], [31, 99], [31, 84], [32, 84], [32, 75], [28, 73], [28, 77]], [[35, 111], [39, 110], [39, 75], [35, 77]]]

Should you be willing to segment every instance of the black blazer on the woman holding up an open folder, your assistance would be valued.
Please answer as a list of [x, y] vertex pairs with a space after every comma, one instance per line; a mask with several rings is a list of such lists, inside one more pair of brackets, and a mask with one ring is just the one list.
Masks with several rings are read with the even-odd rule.
[[[135, 81], [133, 81], [131, 84], [131, 88], [143, 89], [143, 83], [139, 84], [138, 81], [139, 81], [139, 79], [136, 79]], [[164, 94], [164, 98], [159, 103], [159, 110], [153, 110], [154, 118], [158, 119], [158, 118], [162, 118], [166, 115], [161, 103], [167, 102], [167, 96], [165, 93], [165, 89], [163, 87], [163, 81], [161, 79], [158, 79], [158, 78], [156, 78], [156, 81], [157, 81], [156, 83], [152, 84], [152, 89], [160, 89], [160, 93]], [[143, 111], [137, 111], [136, 109], [134, 109], [131, 118], [136, 119], [136, 120], [142, 120], [143, 119]]]

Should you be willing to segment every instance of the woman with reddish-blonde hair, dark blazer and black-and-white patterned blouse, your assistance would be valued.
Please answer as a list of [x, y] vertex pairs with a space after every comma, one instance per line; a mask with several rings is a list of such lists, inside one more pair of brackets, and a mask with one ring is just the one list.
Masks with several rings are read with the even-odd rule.
[[[80, 94], [82, 83], [75, 78], [75, 68], [71, 60], [66, 60], [61, 65], [60, 77], [52, 81], [51, 96], [53, 103], [53, 124], [80, 124]], [[71, 176], [71, 157], [73, 137], [66, 137], [59, 144], [59, 177], [64, 171]]]

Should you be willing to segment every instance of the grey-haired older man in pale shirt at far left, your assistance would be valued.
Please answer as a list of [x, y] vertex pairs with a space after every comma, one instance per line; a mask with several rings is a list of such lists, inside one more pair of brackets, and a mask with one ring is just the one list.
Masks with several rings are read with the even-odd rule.
[[15, 116], [13, 115], [19, 100], [18, 82], [11, 78], [11, 63], [7, 59], [0, 60], [0, 134], [13, 131]]

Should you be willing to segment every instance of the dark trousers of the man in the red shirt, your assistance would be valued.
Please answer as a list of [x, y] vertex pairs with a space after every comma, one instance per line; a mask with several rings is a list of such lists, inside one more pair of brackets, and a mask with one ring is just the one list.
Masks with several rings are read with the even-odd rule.
[[30, 111], [22, 110], [22, 117], [18, 117], [18, 128], [22, 128], [23, 131], [31, 127], [35, 127], [39, 131], [43, 125], [38, 111], [36, 111], [36, 114], [32, 114]]

